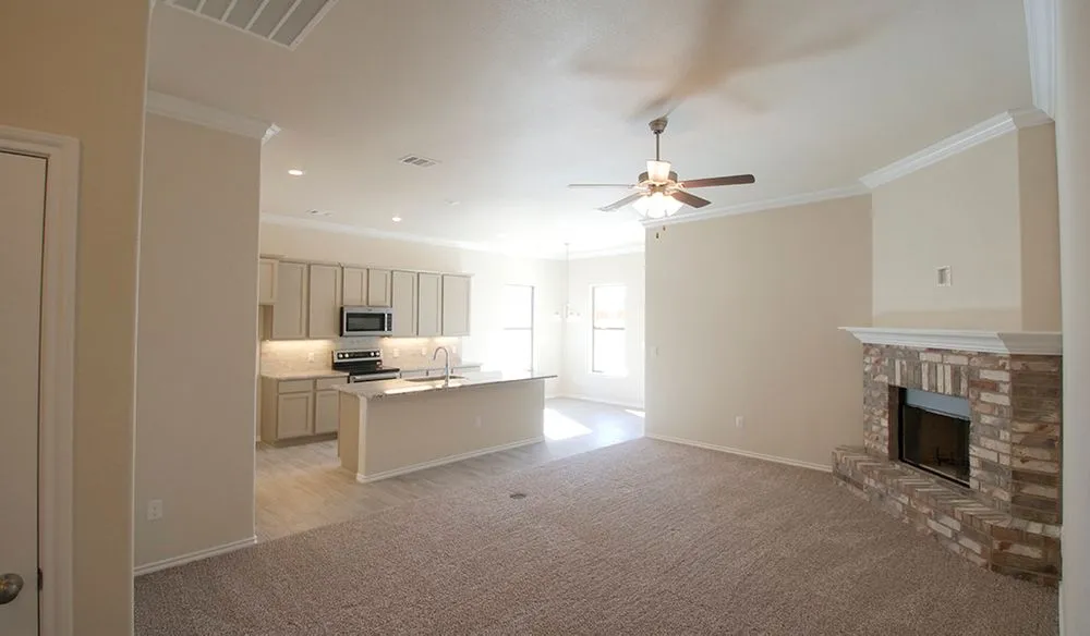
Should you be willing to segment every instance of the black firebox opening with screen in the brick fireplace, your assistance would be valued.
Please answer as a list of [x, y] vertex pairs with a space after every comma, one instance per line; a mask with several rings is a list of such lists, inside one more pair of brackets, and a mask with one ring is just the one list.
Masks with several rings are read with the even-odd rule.
[[900, 461], [969, 485], [969, 401], [904, 389]]

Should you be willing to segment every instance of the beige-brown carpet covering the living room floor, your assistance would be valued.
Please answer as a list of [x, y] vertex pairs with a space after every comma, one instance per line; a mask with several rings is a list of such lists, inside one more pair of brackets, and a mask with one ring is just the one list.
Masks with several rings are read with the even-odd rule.
[[1057, 631], [828, 475], [651, 440], [136, 580], [141, 636]]

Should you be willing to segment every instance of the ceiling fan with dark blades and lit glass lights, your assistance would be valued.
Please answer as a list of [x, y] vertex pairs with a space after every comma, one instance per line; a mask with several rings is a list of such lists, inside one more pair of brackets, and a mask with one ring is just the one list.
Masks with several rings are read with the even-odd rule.
[[650, 219], [669, 217], [681, 209], [681, 206], [702, 208], [712, 201], [701, 198], [689, 189], [698, 187], [715, 187], [719, 185], [743, 185], [756, 182], [752, 174], [736, 174], [734, 176], [711, 176], [707, 179], [690, 179], [678, 181], [678, 173], [670, 170], [670, 162], [663, 161], [659, 156], [659, 138], [666, 130], [665, 117], [652, 120], [651, 132], [655, 134], [655, 159], [647, 161], [647, 171], [640, 174], [638, 183], [572, 183], [568, 187], [623, 187], [635, 188], [631, 194], [608, 206], [598, 208], [604, 212], [613, 212], [631, 204], [640, 213]]

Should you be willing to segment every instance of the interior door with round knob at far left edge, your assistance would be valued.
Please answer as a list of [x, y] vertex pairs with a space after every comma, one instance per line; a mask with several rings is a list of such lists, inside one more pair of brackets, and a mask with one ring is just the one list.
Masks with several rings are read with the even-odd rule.
[[38, 634], [38, 346], [45, 203], [46, 160], [0, 150], [0, 634], [5, 636]]

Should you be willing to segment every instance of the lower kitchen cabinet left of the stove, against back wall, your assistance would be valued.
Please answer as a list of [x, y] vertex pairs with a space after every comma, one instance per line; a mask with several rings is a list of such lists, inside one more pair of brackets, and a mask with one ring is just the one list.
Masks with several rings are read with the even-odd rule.
[[278, 380], [262, 377], [261, 436], [270, 444], [336, 433], [340, 401], [332, 387], [344, 378]]

